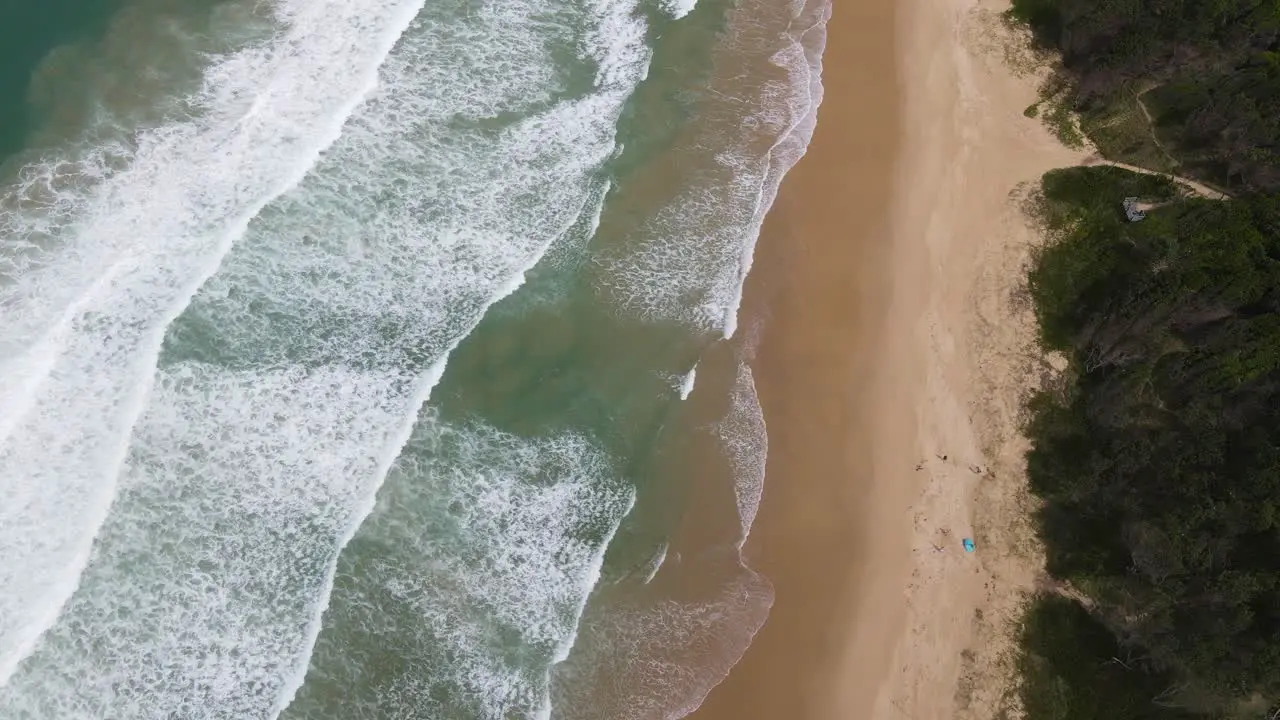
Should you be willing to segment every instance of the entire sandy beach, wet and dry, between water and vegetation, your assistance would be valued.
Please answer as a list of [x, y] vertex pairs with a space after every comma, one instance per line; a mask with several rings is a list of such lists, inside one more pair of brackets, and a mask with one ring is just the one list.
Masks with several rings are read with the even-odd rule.
[[[776, 602], [699, 720], [995, 717], [1039, 573], [1019, 436], [1052, 363], [1023, 200], [1078, 164], [1023, 110], [1002, 0], [835, 0], [826, 99], [745, 296]], [[963, 538], [977, 551], [964, 552]]]

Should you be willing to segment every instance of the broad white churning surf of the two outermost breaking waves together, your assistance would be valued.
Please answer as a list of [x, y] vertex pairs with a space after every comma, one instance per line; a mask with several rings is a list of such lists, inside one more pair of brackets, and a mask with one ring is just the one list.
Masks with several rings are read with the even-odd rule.
[[6, 215], [0, 715], [271, 716], [301, 684], [448, 351], [572, 224], [644, 70], [625, 5], [419, 10], [280, 4], [189, 119]]

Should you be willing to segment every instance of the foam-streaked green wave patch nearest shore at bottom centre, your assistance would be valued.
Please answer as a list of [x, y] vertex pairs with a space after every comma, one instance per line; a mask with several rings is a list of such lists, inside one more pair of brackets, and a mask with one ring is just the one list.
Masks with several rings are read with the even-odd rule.
[[420, 423], [343, 555], [291, 717], [543, 717], [631, 491], [593, 443]]

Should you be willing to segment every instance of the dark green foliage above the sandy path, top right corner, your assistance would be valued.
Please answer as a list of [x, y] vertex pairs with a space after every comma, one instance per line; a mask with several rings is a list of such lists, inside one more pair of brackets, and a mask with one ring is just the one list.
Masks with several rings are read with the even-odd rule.
[[[1149, 90], [1153, 137], [1184, 174], [1280, 190], [1280, 0], [1014, 0], [1014, 15], [1062, 53], [1087, 132]], [[1133, 138], [1094, 140], [1140, 155]]]

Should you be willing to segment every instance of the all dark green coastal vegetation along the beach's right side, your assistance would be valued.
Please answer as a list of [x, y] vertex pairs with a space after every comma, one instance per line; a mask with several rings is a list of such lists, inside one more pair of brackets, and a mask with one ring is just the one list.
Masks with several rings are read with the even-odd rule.
[[1039, 117], [1069, 111], [1102, 156], [1153, 170], [1042, 181], [1028, 288], [1041, 343], [1070, 363], [1029, 402], [1050, 577], [1021, 624], [1025, 715], [1275, 720], [1280, 1], [1010, 14], [1061, 56]]

